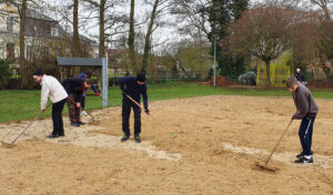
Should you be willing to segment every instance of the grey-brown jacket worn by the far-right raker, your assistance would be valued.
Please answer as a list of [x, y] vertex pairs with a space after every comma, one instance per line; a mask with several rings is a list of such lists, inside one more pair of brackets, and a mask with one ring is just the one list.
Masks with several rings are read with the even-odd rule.
[[293, 120], [302, 120], [304, 117], [315, 117], [319, 106], [314, 102], [309, 89], [299, 82], [299, 88], [293, 92], [293, 99], [297, 109], [292, 116]]

